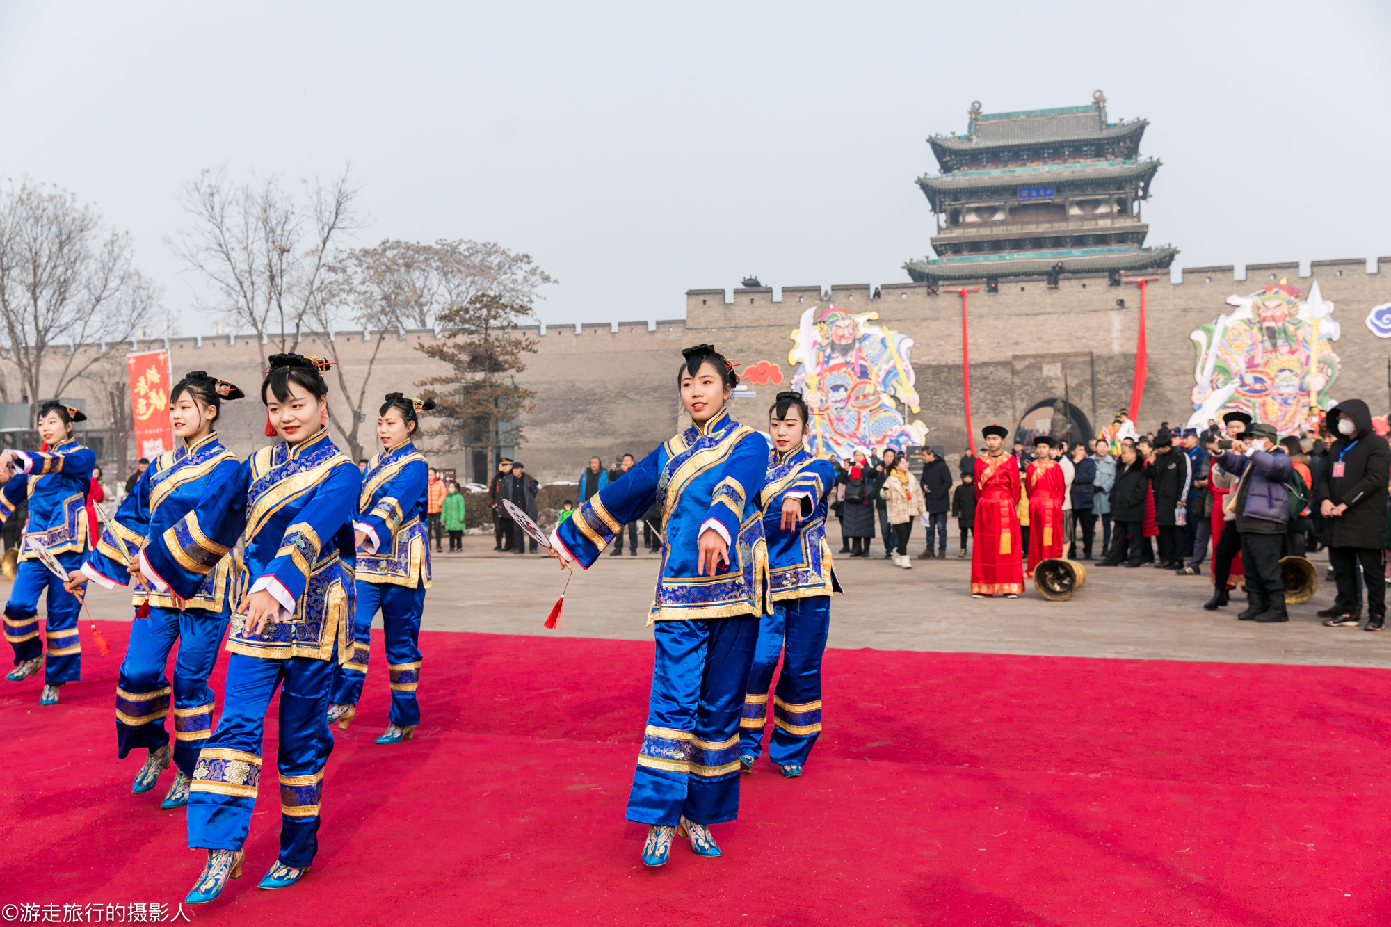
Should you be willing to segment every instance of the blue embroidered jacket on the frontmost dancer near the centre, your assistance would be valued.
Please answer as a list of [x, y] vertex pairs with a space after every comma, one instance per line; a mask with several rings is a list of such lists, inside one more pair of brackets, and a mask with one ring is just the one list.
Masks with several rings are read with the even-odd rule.
[[[556, 539], [588, 569], [623, 525], [662, 505], [662, 575], [648, 624], [758, 615], [764, 611], [768, 548], [758, 490], [768, 470], [768, 441], [723, 409], [648, 454], [559, 525]], [[700, 576], [697, 540], [705, 526], [729, 541], [729, 564]]]

